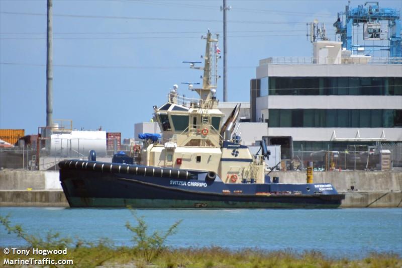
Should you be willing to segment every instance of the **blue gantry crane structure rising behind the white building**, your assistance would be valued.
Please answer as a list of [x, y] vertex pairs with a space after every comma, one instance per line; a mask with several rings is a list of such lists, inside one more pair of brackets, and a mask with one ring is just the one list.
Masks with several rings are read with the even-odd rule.
[[[387, 30], [381, 21], [388, 21]], [[387, 45], [355, 45], [352, 42], [352, 26], [363, 23], [363, 40], [388, 40]], [[351, 51], [388, 50], [390, 57], [402, 57], [400, 12], [396, 9], [380, 8], [378, 2], [366, 2], [357, 8], [346, 6], [338, 13], [334, 23], [336, 34], [340, 34], [342, 48]]]

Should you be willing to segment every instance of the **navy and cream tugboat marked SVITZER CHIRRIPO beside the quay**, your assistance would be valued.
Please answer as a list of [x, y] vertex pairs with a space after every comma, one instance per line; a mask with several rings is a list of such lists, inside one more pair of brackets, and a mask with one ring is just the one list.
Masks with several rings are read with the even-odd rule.
[[[177, 86], [155, 120], [163, 137], [145, 134], [134, 164], [114, 157], [111, 163], [88, 160], [59, 162], [60, 182], [70, 207], [134, 208], [337, 208], [344, 195], [331, 184], [281, 184], [265, 174], [269, 157], [264, 140], [261, 154], [252, 155], [233, 135], [240, 105], [223, 122], [217, 108], [218, 35], [208, 32], [203, 85], [190, 90], [199, 99], [177, 94]], [[119, 160], [120, 159], [120, 160]]]

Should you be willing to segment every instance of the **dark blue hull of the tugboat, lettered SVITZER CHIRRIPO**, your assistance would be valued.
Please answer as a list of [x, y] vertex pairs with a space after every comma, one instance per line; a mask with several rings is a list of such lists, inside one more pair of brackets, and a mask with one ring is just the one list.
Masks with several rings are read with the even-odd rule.
[[71, 207], [337, 208], [344, 199], [329, 184], [225, 184], [219, 177], [206, 180], [206, 171], [144, 171], [136, 165], [74, 160], [59, 165]]

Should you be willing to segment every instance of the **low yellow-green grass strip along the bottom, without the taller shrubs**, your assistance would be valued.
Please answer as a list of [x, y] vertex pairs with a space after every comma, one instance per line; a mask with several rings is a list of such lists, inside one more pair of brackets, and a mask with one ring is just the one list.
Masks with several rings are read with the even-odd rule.
[[[0, 251], [0, 260], [5, 258], [22, 258]], [[38, 258], [30, 255], [24, 257]], [[204, 248], [163, 248], [160, 254], [147, 262], [144, 251], [135, 251], [132, 247], [108, 247], [104, 244], [90, 247], [69, 248], [67, 255], [49, 255], [52, 259], [73, 259], [74, 265], [65, 267], [197, 267], [197, 268], [400, 268], [402, 259], [396, 254], [371, 253], [362, 259], [336, 259], [326, 257], [318, 251], [296, 253], [291, 250], [264, 251], [260, 249], [230, 250], [221, 247]], [[3, 266], [2, 266], [3, 267]], [[19, 267], [13, 265], [13, 267]], [[20, 267], [23, 267], [22, 265]], [[52, 266], [51, 266], [52, 267]], [[56, 267], [56, 266], [53, 266]], [[63, 267], [58, 265], [57, 267]]]

